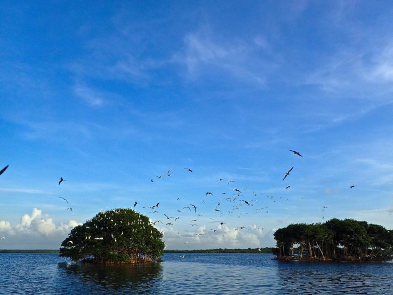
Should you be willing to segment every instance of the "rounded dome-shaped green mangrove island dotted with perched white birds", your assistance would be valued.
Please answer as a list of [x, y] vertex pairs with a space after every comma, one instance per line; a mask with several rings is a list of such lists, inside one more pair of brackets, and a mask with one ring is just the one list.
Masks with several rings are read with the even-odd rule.
[[157, 261], [164, 251], [161, 239], [149, 217], [133, 209], [113, 209], [73, 228], [61, 243], [60, 256], [105, 264]]

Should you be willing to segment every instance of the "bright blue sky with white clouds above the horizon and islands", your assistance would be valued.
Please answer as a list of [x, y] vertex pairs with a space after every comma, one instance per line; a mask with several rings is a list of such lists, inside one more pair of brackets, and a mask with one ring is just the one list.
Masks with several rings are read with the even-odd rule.
[[[162, 220], [167, 249], [269, 247], [278, 228], [333, 217], [391, 229], [392, 12], [387, 1], [3, 5], [0, 249], [57, 249], [100, 209], [135, 201]], [[180, 218], [165, 225], [164, 213]]]

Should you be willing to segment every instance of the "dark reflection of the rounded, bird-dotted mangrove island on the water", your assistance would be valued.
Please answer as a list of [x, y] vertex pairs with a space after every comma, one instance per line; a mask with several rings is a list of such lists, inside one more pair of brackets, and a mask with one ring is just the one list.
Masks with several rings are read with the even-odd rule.
[[[96, 286], [96, 291], [107, 294], [133, 291], [150, 293], [162, 273], [160, 263], [131, 265], [100, 265], [91, 263], [58, 263], [62, 276], [76, 278], [80, 284]], [[104, 290], [104, 289], [105, 290]], [[99, 289], [99, 290], [98, 290]]]

